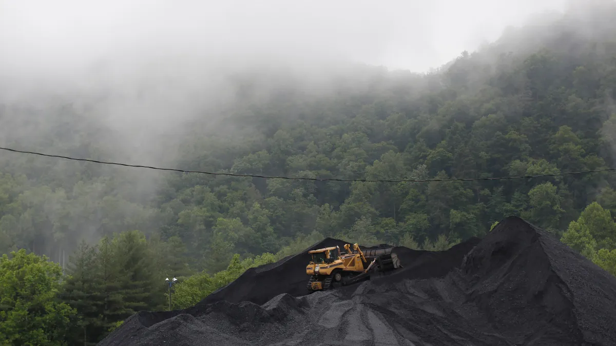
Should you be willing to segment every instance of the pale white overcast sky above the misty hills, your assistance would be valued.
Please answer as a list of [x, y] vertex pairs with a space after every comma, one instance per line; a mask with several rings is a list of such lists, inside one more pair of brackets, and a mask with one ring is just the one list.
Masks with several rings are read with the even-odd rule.
[[0, 0], [0, 70], [233, 52], [426, 71], [565, 0]]

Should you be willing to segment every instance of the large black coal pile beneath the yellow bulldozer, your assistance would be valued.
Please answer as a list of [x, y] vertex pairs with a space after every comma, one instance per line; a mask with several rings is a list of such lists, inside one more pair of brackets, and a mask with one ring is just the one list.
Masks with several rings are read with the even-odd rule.
[[[344, 243], [311, 249], [330, 244]], [[522, 219], [448, 251], [395, 250], [391, 275], [302, 296], [304, 251], [100, 345], [616, 345], [616, 278]]]

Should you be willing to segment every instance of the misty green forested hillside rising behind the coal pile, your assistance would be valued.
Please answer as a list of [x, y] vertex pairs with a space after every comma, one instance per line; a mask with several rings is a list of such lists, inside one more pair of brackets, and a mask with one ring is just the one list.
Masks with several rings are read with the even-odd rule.
[[[81, 343], [136, 310], [166, 308], [166, 276], [204, 271], [177, 286], [174, 306], [194, 304], [325, 236], [442, 249], [520, 215], [559, 239], [569, 228], [567, 244], [601, 253], [616, 273], [616, 175], [480, 180], [616, 166], [615, 20], [614, 3], [598, 1], [507, 30], [429, 74], [349, 66], [326, 91], [283, 69], [239, 74], [217, 116], [201, 110], [143, 142], [89, 113], [105, 95], [5, 102], [0, 144], [20, 150], [249, 175], [477, 180], [229, 177], [3, 151], [0, 251], [47, 255], [72, 275], [54, 292], [85, 321], [70, 332]], [[2, 287], [0, 306], [14, 306]]]

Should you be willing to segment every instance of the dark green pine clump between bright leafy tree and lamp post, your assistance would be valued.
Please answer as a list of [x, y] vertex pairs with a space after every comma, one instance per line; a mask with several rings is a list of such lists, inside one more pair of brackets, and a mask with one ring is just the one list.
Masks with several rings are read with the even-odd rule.
[[[187, 263], [177, 263], [186, 257], [174, 245], [176, 239], [148, 240], [140, 231], [116, 233], [95, 246], [79, 244], [63, 285], [63, 299], [79, 316], [73, 342], [96, 344], [133, 313], [165, 307], [164, 278], [192, 274]], [[171, 250], [178, 251], [175, 257]]]

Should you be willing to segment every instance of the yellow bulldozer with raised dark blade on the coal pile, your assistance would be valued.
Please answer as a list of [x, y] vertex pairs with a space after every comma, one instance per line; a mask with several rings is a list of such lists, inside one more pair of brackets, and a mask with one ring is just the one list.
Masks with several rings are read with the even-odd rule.
[[306, 267], [310, 275], [307, 284], [309, 292], [347, 286], [370, 278], [375, 272], [388, 272], [402, 267], [393, 247], [377, 249], [362, 249], [356, 243], [345, 244], [346, 252], [341, 252], [339, 246], [324, 247], [309, 251], [312, 256]]

